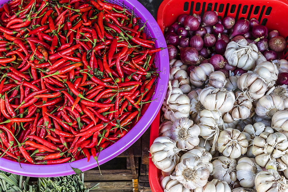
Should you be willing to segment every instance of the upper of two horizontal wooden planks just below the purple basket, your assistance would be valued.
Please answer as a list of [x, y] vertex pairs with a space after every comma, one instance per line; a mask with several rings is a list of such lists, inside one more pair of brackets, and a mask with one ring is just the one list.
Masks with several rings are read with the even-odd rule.
[[84, 172], [85, 181], [111, 181], [111, 180], [131, 180], [132, 172], [129, 169], [113, 170], [87, 170]]

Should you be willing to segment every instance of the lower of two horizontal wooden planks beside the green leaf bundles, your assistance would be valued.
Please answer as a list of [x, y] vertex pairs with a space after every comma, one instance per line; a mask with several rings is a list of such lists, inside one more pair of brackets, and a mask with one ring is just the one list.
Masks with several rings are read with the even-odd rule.
[[92, 191], [132, 191], [131, 181], [99, 181], [99, 182], [84, 182], [87, 188], [93, 187], [99, 183], [99, 189]]

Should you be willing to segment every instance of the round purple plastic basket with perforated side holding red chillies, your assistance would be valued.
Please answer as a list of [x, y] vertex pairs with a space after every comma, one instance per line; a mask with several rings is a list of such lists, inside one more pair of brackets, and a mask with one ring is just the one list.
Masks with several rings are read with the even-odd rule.
[[[156, 48], [167, 47], [164, 36], [156, 20], [141, 3], [139, 3], [137, 0], [108, 1], [118, 5], [122, 5], [127, 9], [133, 9], [135, 7], [134, 14], [137, 17], [142, 18], [143, 23], [145, 23], [147, 20], [147, 27], [145, 27], [144, 29], [147, 37], [150, 36], [157, 39], [155, 41]], [[0, 0], [0, 5], [3, 5], [6, 2], [7, 0]], [[161, 71], [159, 72], [159, 78], [156, 84], [155, 94], [152, 98], [152, 100], [157, 100], [151, 102], [143, 117], [123, 138], [121, 138], [119, 141], [117, 141], [110, 147], [101, 151], [98, 158], [98, 162], [100, 165], [115, 158], [120, 153], [125, 151], [128, 147], [130, 147], [135, 141], [137, 141], [150, 126], [151, 122], [154, 120], [158, 111], [160, 110], [166, 94], [169, 79], [169, 59], [167, 49], [163, 49], [156, 54], [155, 64], [158, 68], [158, 71]], [[22, 168], [20, 168], [20, 165], [17, 162], [13, 162], [4, 158], [0, 159], [1, 170], [32, 177], [55, 177], [71, 175], [75, 174], [71, 167], [86, 171], [96, 167], [97, 163], [94, 158], [91, 158], [89, 162], [87, 162], [87, 158], [84, 158], [71, 163], [64, 163], [58, 165], [31, 165], [21, 163], [21, 166]]]

